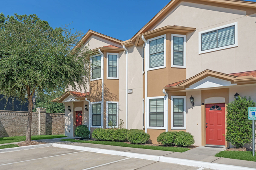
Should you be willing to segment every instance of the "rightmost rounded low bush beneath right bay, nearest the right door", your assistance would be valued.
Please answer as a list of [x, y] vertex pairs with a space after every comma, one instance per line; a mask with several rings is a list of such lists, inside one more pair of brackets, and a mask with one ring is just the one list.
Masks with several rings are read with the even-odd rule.
[[195, 143], [194, 136], [189, 132], [179, 131], [176, 133], [176, 138], [174, 144], [176, 146], [191, 146]]

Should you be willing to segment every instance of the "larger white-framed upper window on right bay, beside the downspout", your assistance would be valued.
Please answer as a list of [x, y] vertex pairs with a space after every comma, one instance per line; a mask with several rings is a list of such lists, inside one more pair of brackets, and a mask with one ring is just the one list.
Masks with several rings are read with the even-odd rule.
[[165, 68], [165, 35], [148, 39], [148, 70]]

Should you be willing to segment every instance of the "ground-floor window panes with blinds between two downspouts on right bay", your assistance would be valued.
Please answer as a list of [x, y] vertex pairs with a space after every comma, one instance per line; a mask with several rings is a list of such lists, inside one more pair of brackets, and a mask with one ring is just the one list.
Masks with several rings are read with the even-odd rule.
[[164, 99], [149, 100], [149, 126], [163, 127]]

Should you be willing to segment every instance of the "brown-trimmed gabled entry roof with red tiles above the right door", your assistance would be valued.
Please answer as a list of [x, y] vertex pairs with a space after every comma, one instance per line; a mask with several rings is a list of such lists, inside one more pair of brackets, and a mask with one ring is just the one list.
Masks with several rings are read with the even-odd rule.
[[230, 82], [230, 85], [252, 84], [256, 83], [256, 70], [225, 74], [206, 69], [189, 79], [168, 84], [167, 86], [163, 87], [163, 89], [168, 91], [186, 90], [186, 88], [189, 89], [189, 86], [196, 84], [197, 82], [205, 79], [206, 77], [213, 77], [212, 79], [217, 78], [223, 81], [228, 81]]

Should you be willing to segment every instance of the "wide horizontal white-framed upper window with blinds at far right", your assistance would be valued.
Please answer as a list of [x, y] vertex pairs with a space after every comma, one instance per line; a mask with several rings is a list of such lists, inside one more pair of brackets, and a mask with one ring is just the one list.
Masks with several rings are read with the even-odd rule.
[[199, 54], [237, 46], [237, 22], [199, 32]]

